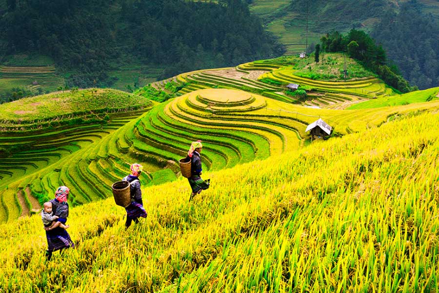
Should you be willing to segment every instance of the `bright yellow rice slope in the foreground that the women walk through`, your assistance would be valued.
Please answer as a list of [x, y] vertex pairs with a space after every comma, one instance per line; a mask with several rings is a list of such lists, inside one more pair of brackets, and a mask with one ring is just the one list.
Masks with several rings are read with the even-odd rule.
[[[0, 225], [0, 287], [55, 292], [428, 292], [438, 280], [439, 116], [143, 188], [124, 231], [113, 199], [71, 209], [77, 249], [44, 262], [40, 217]], [[432, 130], [432, 131], [425, 131]], [[231, 176], [233, 174], [233, 176]]]

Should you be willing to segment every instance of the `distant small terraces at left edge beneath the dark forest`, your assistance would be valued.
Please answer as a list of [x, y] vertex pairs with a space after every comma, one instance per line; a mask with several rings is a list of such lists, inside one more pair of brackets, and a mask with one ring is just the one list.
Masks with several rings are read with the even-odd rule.
[[[37, 84], [33, 84], [34, 82]], [[45, 93], [55, 91], [63, 85], [64, 79], [57, 75], [53, 65], [0, 65], [0, 92], [7, 92], [14, 87], [26, 87], [33, 93]]]

